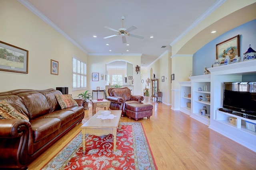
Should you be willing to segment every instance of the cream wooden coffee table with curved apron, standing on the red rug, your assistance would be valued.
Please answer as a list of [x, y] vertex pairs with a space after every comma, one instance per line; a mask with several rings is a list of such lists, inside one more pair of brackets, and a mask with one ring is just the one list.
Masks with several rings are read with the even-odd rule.
[[111, 110], [110, 114], [116, 115], [114, 119], [100, 119], [97, 118], [98, 115], [101, 115], [101, 111], [98, 111], [95, 115], [93, 115], [86, 123], [81, 126], [82, 129], [82, 141], [83, 141], [83, 151], [85, 153], [86, 150], [86, 134], [102, 136], [112, 134], [114, 137], [114, 152], [116, 151], [116, 131], [120, 126], [120, 117], [122, 114], [122, 110]]

